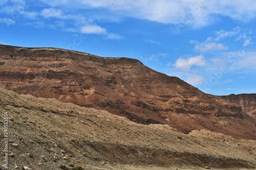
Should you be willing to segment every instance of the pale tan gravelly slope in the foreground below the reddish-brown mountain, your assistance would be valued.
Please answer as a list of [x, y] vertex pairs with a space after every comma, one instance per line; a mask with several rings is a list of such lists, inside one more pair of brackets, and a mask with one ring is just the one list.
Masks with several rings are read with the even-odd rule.
[[[107, 111], [0, 88], [1, 117], [4, 112], [8, 112], [9, 169], [55, 170], [71, 164], [90, 170], [256, 165], [255, 140], [206, 130], [186, 135], [168, 125], [141, 125]], [[4, 127], [3, 121], [0, 126]], [[1, 131], [2, 143], [4, 135]]]

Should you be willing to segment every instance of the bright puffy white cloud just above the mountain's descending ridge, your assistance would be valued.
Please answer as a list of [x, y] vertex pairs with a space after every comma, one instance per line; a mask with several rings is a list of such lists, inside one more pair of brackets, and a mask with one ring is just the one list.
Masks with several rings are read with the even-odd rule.
[[176, 68], [181, 68], [186, 71], [190, 69], [191, 66], [205, 66], [206, 61], [203, 56], [190, 57], [188, 59], [179, 58], [174, 64]]

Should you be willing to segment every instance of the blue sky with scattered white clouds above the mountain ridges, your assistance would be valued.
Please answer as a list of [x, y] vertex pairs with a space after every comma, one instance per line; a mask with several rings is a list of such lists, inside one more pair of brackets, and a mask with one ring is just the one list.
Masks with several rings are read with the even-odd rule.
[[135, 58], [206, 93], [256, 93], [255, 7], [253, 0], [2, 0], [0, 43]]

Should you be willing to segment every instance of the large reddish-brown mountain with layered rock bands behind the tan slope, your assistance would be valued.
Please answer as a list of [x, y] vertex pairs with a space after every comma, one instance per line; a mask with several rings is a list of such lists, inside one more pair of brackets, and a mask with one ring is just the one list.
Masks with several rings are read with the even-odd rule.
[[239, 105], [135, 59], [0, 45], [0, 63], [0, 83], [20, 94], [107, 110], [141, 124], [167, 124], [184, 133], [207, 129], [256, 139], [255, 120]]

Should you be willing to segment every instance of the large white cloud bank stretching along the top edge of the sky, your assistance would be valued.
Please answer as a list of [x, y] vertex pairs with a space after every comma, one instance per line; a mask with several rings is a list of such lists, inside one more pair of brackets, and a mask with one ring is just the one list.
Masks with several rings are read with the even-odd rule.
[[[130, 16], [162, 23], [183, 23], [201, 27], [213, 22], [213, 16], [227, 16], [248, 21], [256, 16], [256, 2], [244, 1], [198, 1], [198, 0], [41, 0], [51, 6], [68, 8], [105, 8], [120, 16]], [[204, 3], [202, 3], [204, 2]]]

